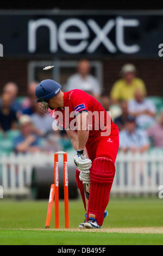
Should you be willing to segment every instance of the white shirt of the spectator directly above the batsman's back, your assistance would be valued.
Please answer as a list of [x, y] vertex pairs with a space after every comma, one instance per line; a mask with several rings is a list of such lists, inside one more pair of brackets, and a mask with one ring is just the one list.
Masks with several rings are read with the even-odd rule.
[[101, 87], [99, 86], [98, 80], [92, 75], [87, 75], [85, 78], [79, 74], [72, 75], [68, 78], [66, 89], [67, 91], [80, 89], [93, 94], [101, 94]]

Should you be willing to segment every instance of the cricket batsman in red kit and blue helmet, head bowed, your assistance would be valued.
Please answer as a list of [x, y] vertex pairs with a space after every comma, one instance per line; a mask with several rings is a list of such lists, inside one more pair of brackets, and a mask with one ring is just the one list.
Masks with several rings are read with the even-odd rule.
[[[59, 83], [47, 79], [37, 85], [35, 93], [43, 111], [53, 111], [55, 118], [62, 113], [61, 125], [77, 151], [76, 182], [86, 211], [86, 219], [79, 228], [101, 228], [104, 217], [108, 216], [105, 209], [115, 175], [118, 127], [101, 103], [83, 90], [62, 92]], [[66, 113], [67, 107], [70, 115]], [[72, 123], [76, 124], [76, 130]]]

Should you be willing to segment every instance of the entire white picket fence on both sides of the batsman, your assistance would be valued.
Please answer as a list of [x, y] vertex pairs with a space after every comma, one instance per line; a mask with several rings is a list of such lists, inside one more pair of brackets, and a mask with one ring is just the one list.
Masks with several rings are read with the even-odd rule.
[[[74, 151], [68, 153], [68, 165], [72, 166]], [[54, 164], [53, 153], [11, 154], [0, 157], [0, 185], [5, 195], [28, 195], [30, 193], [33, 167]], [[75, 177], [74, 177], [75, 182]], [[116, 175], [112, 193], [158, 193], [163, 185], [163, 154], [122, 154], [117, 155]]]

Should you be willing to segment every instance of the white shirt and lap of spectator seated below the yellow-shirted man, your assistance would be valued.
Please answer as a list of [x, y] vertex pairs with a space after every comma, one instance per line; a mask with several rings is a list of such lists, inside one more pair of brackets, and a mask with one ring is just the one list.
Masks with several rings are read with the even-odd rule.
[[[150, 100], [144, 99], [141, 102], [138, 102], [136, 100], [130, 100], [128, 102], [128, 111], [130, 112], [130, 114], [146, 110], [156, 113], [156, 108]], [[140, 114], [136, 117], [136, 124], [139, 127], [145, 129], [151, 126], [154, 123], [154, 121], [154, 117], [148, 114]]]

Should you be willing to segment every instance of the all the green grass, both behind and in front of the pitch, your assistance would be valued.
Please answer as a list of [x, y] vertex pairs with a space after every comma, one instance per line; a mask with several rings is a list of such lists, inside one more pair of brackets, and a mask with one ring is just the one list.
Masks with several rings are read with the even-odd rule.
[[[44, 228], [48, 200], [0, 200], [1, 245], [162, 245], [162, 234], [89, 233]], [[84, 220], [83, 204], [70, 200], [70, 228]], [[163, 200], [158, 198], [111, 198], [103, 227], [163, 227]], [[54, 212], [51, 220], [54, 228]], [[60, 202], [60, 228], [64, 228], [64, 202]]]

